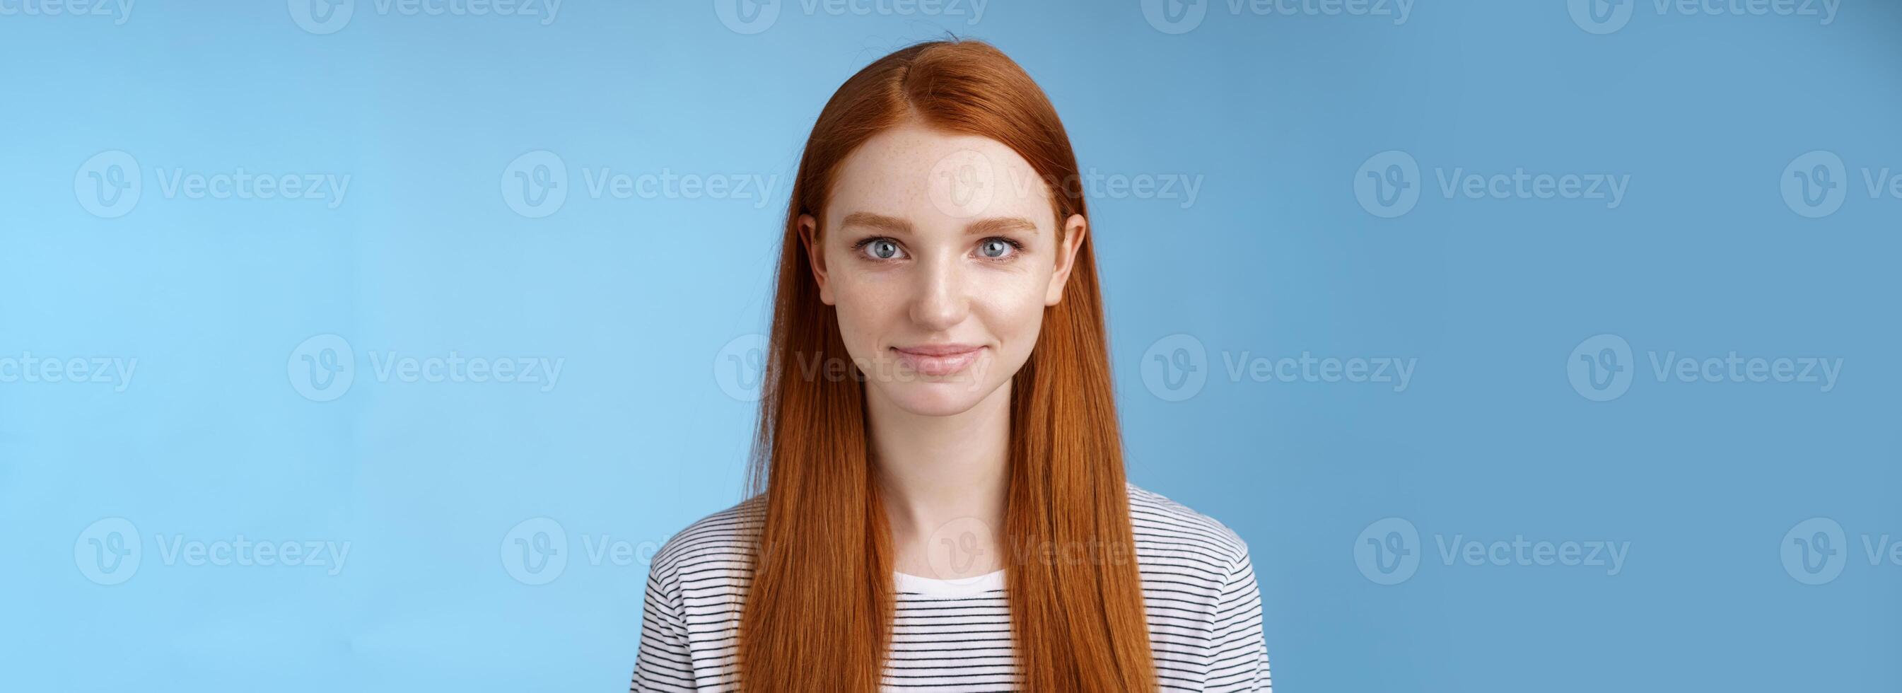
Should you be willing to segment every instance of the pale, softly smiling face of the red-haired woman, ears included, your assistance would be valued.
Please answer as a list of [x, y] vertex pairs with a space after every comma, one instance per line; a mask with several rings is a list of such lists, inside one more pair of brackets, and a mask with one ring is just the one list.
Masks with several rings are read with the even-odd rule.
[[1010, 383], [1088, 232], [1071, 215], [1059, 244], [1050, 196], [1010, 147], [922, 126], [841, 162], [799, 230], [869, 398], [955, 415]]

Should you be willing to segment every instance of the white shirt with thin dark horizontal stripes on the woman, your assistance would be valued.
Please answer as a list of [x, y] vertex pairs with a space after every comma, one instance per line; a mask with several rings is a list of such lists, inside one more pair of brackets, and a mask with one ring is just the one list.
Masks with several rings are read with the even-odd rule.
[[[757, 497], [755, 497], [757, 499]], [[1219, 522], [1130, 484], [1149, 647], [1162, 691], [1269, 691], [1261, 592], [1248, 544]], [[694, 522], [654, 554], [631, 691], [730, 691], [759, 505]], [[884, 691], [1016, 691], [1004, 573], [894, 573]]]

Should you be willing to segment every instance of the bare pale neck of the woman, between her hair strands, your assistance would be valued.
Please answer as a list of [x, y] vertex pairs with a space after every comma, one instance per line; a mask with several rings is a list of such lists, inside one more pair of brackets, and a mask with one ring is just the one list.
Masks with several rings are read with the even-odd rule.
[[932, 417], [900, 409], [867, 386], [865, 413], [879, 499], [900, 564], [934, 531], [1004, 527], [1010, 489], [1010, 383], [968, 411]]

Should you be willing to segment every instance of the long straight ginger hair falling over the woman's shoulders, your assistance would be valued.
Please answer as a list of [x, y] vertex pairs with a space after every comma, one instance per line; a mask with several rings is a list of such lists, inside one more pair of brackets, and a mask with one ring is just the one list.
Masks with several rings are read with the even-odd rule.
[[[871, 135], [917, 122], [995, 139], [1044, 179], [1056, 232], [1084, 213], [1056, 107], [1018, 63], [976, 40], [903, 48], [852, 74], [806, 139], [786, 211], [751, 489], [751, 584], [736, 668], [749, 693], [869, 693], [894, 613], [892, 546], [869, 459], [864, 373], [820, 301], [799, 215], [824, 228], [835, 169]], [[1025, 691], [1155, 691], [1130, 529], [1122, 438], [1090, 236], [1025, 366], [1010, 381], [1010, 480], [1000, 533], [1010, 630]], [[818, 244], [814, 244], [818, 246]]]

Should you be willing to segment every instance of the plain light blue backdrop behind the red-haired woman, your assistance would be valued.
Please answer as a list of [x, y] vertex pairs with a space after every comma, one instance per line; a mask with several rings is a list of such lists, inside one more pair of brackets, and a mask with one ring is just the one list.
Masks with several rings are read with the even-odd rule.
[[[719, 366], [765, 327], [812, 118], [947, 30], [1044, 86], [1084, 169], [1202, 181], [1193, 204], [1090, 200], [1118, 406], [1132, 480], [1250, 543], [1280, 689], [1902, 687], [1902, 565], [1862, 544], [1902, 539], [1902, 200], [1862, 188], [1902, 171], [1896, 4], [1822, 25], [1638, 2], [1605, 34], [1560, 0], [1421, 2], [1398, 25], [1204, 0], [1174, 34], [1134, 0], [995, 0], [976, 23], [786, 0], [757, 32], [711, 2], [569, 0], [542, 23], [359, 0], [318, 34], [297, 4], [0, 15], [0, 360], [137, 360], [116, 385], [0, 369], [10, 689], [626, 687], [645, 558], [742, 493], [755, 411]], [[143, 177], [120, 217], [86, 200], [107, 150]], [[542, 217], [500, 192], [533, 150], [569, 175]], [[1385, 150], [1421, 169], [1394, 219], [1354, 194]], [[1820, 219], [1778, 192], [1811, 150], [1847, 164]], [[240, 168], [350, 187], [335, 208], [162, 187]], [[778, 187], [590, 196], [603, 168]], [[1617, 208], [1449, 198], [1455, 168], [1630, 187]], [[1609, 402], [1567, 377], [1600, 333], [1632, 348]], [[352, 348], [329, 402], [297, 386], [314, 335]], [[1208, 373], [1179, 402], [1141, 373], [1168, 335]], [[378, 379], [392, 352], [563, 371], [546, 392]], [[1402, 392], [1257, 383], [1227, 375], [1242, 352], [1417, 367]], [[1843, 367], [1828, 392], [1659, 381], [1647, 358], [1670, 352]], [[103, 518], [137, 527], [118, 584], [86, 560]], [[531, 518], [565, 535], [546, 584], [508, 558]], [[1419, 533], [1398, 584], [1356, 562], [1381, 518]], [[1809, 518], [1847, 531], [1824, 584], [1780, 560]], [[337, 575], [164, 560], [238, 535], [350, 552]], [[1514, 537], [1628, 558], [1440, 558]], [[603, 539], [633, 558], [592, 562]]]

